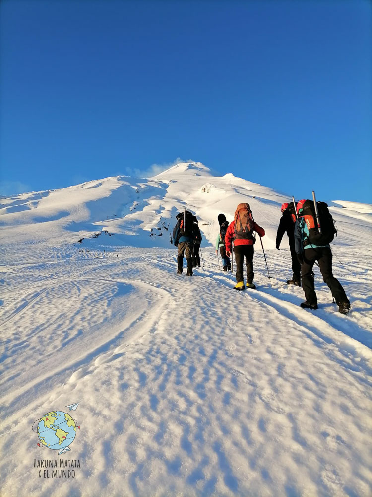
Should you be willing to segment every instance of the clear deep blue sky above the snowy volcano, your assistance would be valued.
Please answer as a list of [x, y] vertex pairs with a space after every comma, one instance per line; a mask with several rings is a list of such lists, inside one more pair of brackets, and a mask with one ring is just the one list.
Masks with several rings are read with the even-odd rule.
[[0, 192], [176, 158], [372, 202], [368, 0], [2, 0]]

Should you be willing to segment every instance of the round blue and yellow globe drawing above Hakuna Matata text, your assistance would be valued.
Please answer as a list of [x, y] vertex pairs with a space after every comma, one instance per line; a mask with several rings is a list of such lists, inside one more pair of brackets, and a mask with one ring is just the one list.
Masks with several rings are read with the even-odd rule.
[[69, 414], [62, 411], [52, 411], [45, 414], [39, 421], [39, 440], [49, 449], [65, 449], [74, 441], [75, 436], [75, 421]]

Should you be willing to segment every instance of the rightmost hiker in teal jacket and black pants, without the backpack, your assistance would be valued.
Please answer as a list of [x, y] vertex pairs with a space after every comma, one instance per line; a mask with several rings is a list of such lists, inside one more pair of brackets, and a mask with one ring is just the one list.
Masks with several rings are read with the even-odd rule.
[[350, 302], [340, 282], [332, 274], [332, 251], [329, 244], [315, 245], [309, 241], [309, 228], [302, 217], [302, 206], [305, 200], [297, 204], [299, 218], [295, 224], [295, 249], [299, 262], [301, 263], [301, 281], [306, 301], [300, 306], [304, 309], [317, 309], [318, 300], [315, 293], [312, 268], [315, 261], [319, 264], [323, 281], [331, 290], [332, 296], [342, 314], [350, 310]]

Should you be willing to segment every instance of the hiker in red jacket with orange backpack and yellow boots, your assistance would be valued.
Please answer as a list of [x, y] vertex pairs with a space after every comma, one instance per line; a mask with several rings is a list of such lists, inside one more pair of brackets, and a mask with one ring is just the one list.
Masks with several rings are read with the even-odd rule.
[[226, 231], [225, 246], [226, 255], [231, 253], [231, 246], [234, 242], [234, 254], [237, 265], [235, 290], [244, 290], [243, 262], [246, 257], [247, 265], [247, 288], [255, 288], [253, 284], [253, 244], [256, 241], [254, 233], [260, 237], [265, 235], [265, 230], [254, 222], [249, 204], [239, 204], [232, 221]]

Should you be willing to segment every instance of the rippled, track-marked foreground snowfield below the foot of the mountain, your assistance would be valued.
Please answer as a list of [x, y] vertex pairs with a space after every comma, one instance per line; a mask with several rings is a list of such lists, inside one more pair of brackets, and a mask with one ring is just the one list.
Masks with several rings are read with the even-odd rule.
[[[362, 258], [341, 316], [319, 274], [319, 310], [299, 308], [302, 289], [278, 279], [285, 250], [268, 252], [269, 282], [256, 248], [258, 288], [245, 292], [208, 248], [193, 278], [175, 274], [175, 249], [42, 250], [8, 252], [1, 268], [3, 495], [372, 492]], [[78, 476], [40, 480], [33, 458], [52, 456], [31, 426], [75, 401]]]

